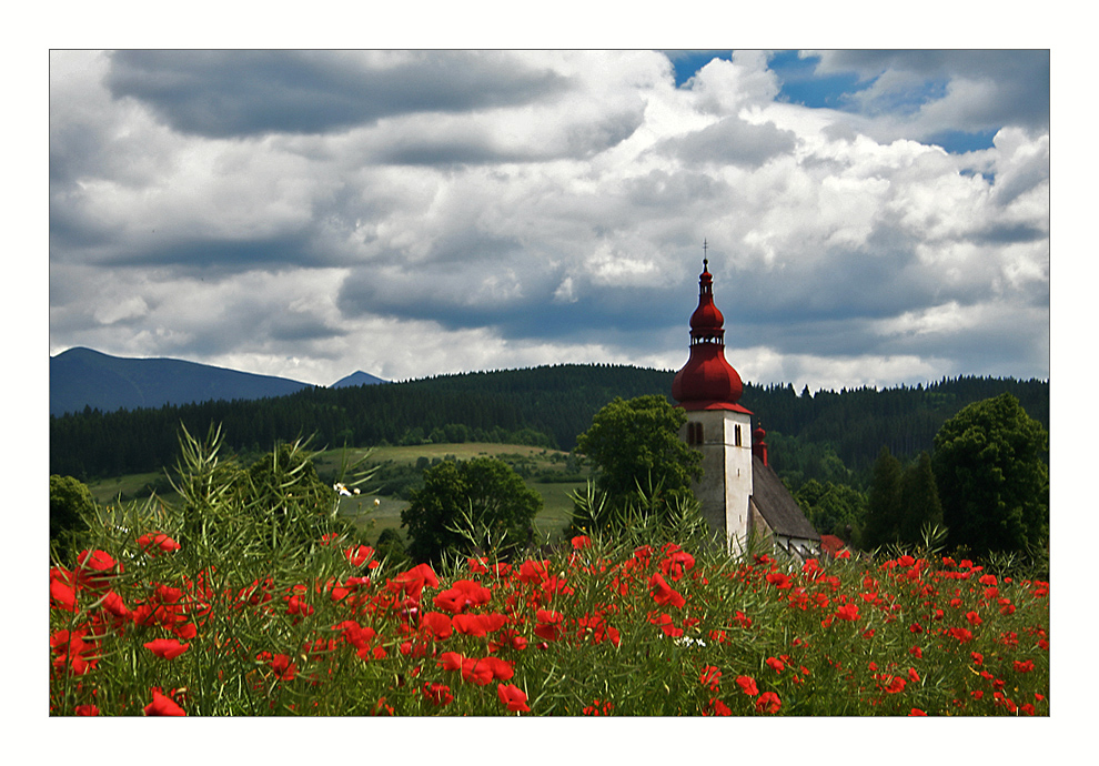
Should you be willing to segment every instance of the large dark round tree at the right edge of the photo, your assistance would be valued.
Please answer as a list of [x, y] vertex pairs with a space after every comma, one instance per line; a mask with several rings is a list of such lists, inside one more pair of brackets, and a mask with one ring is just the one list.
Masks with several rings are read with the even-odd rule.
[[931, 463], [952, 545], [976, 555], [1022, 552], [1049, 538], [1049, 434], [1011, 394], [942, 424]]

